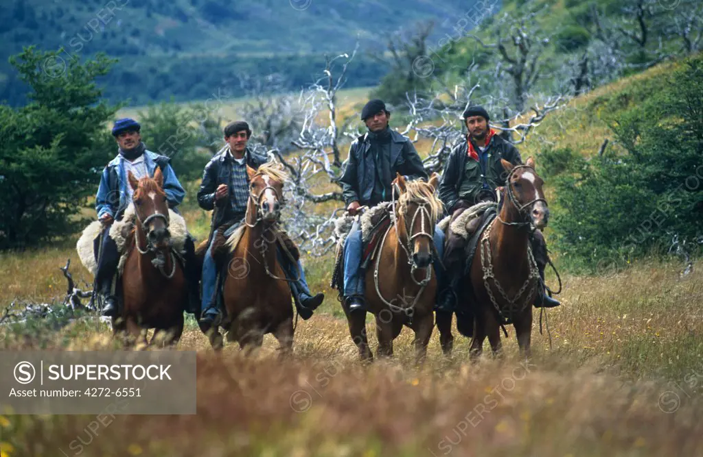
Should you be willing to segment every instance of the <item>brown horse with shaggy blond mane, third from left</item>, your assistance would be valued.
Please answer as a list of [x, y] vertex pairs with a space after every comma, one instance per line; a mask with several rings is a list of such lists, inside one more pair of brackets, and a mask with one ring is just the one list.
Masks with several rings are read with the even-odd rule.
[[[396, 173], [397, 174], [397, 173]], [[400, 191], [394, 204], [396, 223], [383, 234], [375, 262], [366, 271], [364, 296], [375, 315], [377, 357], [392, 357], [393, 340], [407, 325], [415, 332], [415, 360], [423, 362], [434, 328], [434, 296], [437, 277], [432, 266], [434, 225], [441, 214], [441, 201], [434, 197], [437, 173], [429, 183], [406, 182], [397, 174], [392, 183]], [[366, 312], [349, 313], [349, 333], [363, 361], [373, 360], [366, 337]]]

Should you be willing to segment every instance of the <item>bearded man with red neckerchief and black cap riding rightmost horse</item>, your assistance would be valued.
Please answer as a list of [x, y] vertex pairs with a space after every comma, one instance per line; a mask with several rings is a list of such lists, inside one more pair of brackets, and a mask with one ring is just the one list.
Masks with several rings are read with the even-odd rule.
[[[489, 114], [483, 107], [468, 107], [462, 117], [468, 130], [467, 138], [456, 145], [449, 154], [439, 185], [439, 198], [451, 214], [452, 222], [475, 204], [496, 201], [496, 187], [504, 185], [507, 176], [501, 159], [513, 165], [522, 164], [517, 148], [496, 135], [489, 127]], [[464, 277], [466, 240], [477, 230], [480, 219], [472, 219], [466, 227], [466, 238], [451, 231], [447, 235], [444, 267], [448, 277], [444, 291], [440, 292], [439, 310], [451, 312], [456, 309], [460, 282]], [[540, 230], [534, 231], [531, 247], [542, 279], [542, 291], [537, 295], [534, 306], [558, 306], [561, 303], [548, 296], [543, 287], [548, 256], [546, 242]]]

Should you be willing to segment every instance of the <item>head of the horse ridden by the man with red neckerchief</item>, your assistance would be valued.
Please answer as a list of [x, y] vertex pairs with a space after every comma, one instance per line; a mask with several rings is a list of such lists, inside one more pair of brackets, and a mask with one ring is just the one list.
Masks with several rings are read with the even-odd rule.
[[529, 218], [531, 225], [543, 230], [549, 220], [549, 208], [542, 191], [544, 181], [535, 171], [534, 159], [529, 157], [524, 165], [517, 166], [501, 159], [501, 164], [508, 172], [503, 189], [505, 200], [510, 201], [525, 223]]

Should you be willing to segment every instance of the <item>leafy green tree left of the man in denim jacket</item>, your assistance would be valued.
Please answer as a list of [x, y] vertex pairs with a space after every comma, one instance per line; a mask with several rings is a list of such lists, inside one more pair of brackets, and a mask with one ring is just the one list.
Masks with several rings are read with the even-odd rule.
[[0, 249], [32, 246], [84, 225], [75, 216], [114, 152], [105, 122], [120, 108], [101, 100], [96, 86], [115, 62], [105, 55], [81, 63], [30, 46], [10, 62], [30, 87], [30, 102], [0, 105]]

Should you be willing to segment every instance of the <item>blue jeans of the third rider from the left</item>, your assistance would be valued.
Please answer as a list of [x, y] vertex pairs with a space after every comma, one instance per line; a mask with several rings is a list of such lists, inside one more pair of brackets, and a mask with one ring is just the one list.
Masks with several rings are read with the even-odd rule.
[[[439, 259], [444, 258], [444, 232], [437, 225], [434, 226], [434, 247], [437, 249]], [[361, 227], [355, 220], [352, 230], [344, 240], [344, 296], [362, 296], [365, 291], [363, 272], [361, 272], [361, 254], [363, 243], [361, 241]], [[437, 256], [434, 257], [434, 272], [437, 274], [437, 294], [444, 289], [446, 274], [441, 267]]]

